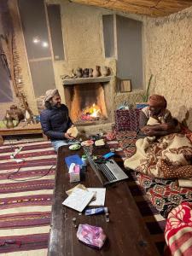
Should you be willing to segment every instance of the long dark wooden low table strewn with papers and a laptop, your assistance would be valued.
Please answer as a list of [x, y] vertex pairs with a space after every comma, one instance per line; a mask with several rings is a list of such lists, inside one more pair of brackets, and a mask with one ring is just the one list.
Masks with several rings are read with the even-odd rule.
[[[108, 149], [105, 149], [105, 152]], [[103, 153], [103, 152], [102, 152]], [[55, 171], [55, 192], [52, 206], [51, 230], [49, 236], [49, 256], [156, 256], [156, 247], [150, 241], [147, 227], [137, 209], [131, 195], [127, 181], [114, 183], [107, 187], [105, 206], [109, 210], [110, 222], [106, 222], [105, 215], [85, 216], [71, 208], [62, 206], [67, 198], [66, 190], [77, 183], [69, 183], [68, 170], [64, 158], [69, 154], [83, 154], [70, 151], [66, 146], [59, 148]], [[101, 152], [100, 152], [101, 154]], [[100, 188], [102, 184], [90, 166], [85, 172], [85, 179], [81, 183], [86, 187]], [[91, 224], [102, 227], [108, 239], [101, 250], [88, 247], [81, 243], [77, 236], [77, 229], [73, 227], [73, 218], [77, 224]]]

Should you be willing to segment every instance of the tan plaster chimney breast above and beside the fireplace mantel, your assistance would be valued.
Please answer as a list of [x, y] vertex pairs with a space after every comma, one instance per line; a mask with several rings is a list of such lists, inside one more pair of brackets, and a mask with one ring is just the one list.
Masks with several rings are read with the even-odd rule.
[[113, 58], [105, 59], [102, 43], [102, 15], [110, 11], [61, 0], [46, 3], [61, 5], [65, 61], [54, 61], [54, 71], [56, 87], [65, 102], [61, 75], [70, 75], [77, 67], [94, 68], [96, 65], [111, 67], [113, 74], [116, 73], [116, 62]]

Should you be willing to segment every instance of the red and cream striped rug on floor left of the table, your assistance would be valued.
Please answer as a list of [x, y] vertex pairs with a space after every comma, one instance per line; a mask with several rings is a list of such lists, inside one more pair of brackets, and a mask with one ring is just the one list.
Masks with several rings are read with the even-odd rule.
[[[16, 158], [25, 161], [17, 163], [10, 159], [10, 154], [21, 146]], [[0, 147], [0, 253], [3, 255], [46, 255], [55, 159], [49, 142], [8, 141]]]

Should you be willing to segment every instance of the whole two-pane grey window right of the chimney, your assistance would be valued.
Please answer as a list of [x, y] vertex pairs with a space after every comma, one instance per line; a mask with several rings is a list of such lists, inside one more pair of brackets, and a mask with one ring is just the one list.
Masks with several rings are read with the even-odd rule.
[[143, 88], [143, 23], [125, 16], [103, 15], [102, 28], [105, 57], [114, 57], [117, 51], [117, 77], [131, 81], [133, 90]]

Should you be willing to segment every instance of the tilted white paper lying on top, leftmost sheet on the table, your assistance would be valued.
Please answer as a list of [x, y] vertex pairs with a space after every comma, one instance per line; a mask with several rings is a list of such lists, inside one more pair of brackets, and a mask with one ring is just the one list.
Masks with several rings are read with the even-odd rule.
[[73, 208], [76, 211], [82, 212], [90, 203], [94, 193], [84, 189], [74, 189], [62, 204], [66, 207]]

